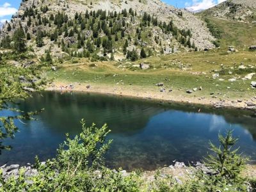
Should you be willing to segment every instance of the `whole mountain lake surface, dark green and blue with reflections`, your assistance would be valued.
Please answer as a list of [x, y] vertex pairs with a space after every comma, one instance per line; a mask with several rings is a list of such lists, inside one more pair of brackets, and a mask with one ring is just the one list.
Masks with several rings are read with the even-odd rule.
[[250, 111], [59, 92], [35, 94], [19, 108], [45, 110], [36, 121], [17, 122], [20, 132], [4, 142], [13, 149], [2, 152], [0, 164], [33, 163], [36, 155], [41, 161], [54, 157], [66, 132], [71, 136], [81, 132], [81, 118], [87, 125], [107, 123], [111, 129], [108, 138], [113, 143], [106, 155], [110, 168], [152, 170], [174, 160], [199, 161], [207, 155], [209, 141], [218, 143], [218, 133], [227, 129], [234, 129], [239, 137], [240, 152], [250, 156], [252, 163], [256, 159], [256, 116]]

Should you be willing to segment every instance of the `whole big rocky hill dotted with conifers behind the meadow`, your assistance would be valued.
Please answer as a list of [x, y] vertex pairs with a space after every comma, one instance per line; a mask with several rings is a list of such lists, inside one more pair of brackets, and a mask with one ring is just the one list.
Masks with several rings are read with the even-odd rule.
[[159, 0], [22, 0], [3, 26], [1, 46], [12, 47], [22, 28], [39, 56], [136, 60], [159, 54], [214, 47], [206, 24], [193, 13]]

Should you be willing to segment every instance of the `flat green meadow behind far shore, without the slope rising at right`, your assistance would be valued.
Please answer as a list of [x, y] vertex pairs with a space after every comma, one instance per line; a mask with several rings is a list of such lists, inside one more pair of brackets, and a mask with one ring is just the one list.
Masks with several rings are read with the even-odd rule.
[[[141, 70], [140, 68], [131, 67], [129, 63], [118, 62], [99, 62], [95, 63], [97, 67], [90, 67], [92, 63], [80, 60], [79, 64], [67, 63], [56, 72], [49, 72], [49, 76], [56, 77], [56, 81], [65, 83], [85, 83], [99, 84], [104, 86], [121, 86], [122, 88], [137, 88], [141, 92], [149, 91], [159, 93], [156, 83], [163, 82], [166, 88], [172, 88], [173, 95], [185, 95], [186, 97], [208, 97], [214, 92], [218, 98], [232, 97], [239, 99], [243, 97], [248, 99], [255, 95], [255, 90], [250, 87], [249, 80], [237, 80], [230, 82], [232, 77], [244, 77], [246, 74], [255, 71], [254, 68], [240, 70], [237, 67], [252, 65], [256, 63], [255, 53], [249, 51], [240, 51], [227, 54], [226, 51], [211, 52], [191, 52], [188, 54], [173, 54], [170, 56], [161, 56], [140, 60], [138, 63], [148, 63], [152, 68]], [[182, 70], [180, 63], [191, 70]], [[223, 64], [224, 67], [221, 67]], [[120, 67], [122, 65], [122, 67]], [[118, 67], [119, 66], [119, 67]], [[124, 68], [125, 67], [125, 68]], [[234, 67], [234, 69], [231, 69]], [[222, 68], [222, 69], [221, 69]], [[225, 81], [212, 79], [212, 70], [219, 70], [220, 78]], [[232, 75], [228, 75], [228, 70]], [[202, 72], [204, 72], [202, 74]], [[117, 74], [117, 76], [114, 76]], [[253, 77], [255, 79], [255, 77]], [[255, 79], [256, 80], [256, 79]], [[202, 86], [202, 92], [195, 92], [191, 95], [186, 93], [187, 89], [198, 88]], [[227, 87], [230, 87], [229, 89]], [[221, 93], [221, 94], [218, 94]], [[217, 95], [218, 94], [218, 95]], [[226, 94], [226, 95], [225, 95]]]

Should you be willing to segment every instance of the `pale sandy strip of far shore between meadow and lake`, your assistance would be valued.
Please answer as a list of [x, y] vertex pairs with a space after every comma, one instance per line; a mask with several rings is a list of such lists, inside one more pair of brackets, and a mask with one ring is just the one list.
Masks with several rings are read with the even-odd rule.
[[[256, 96], [250, 99], [220, 99], [216, 97], [205, 98], [200, 96], [192, 96], [193, 94], [182, 92], [156, 92], [146, 87], [131, 86], [113, 86], [109, 84], [86, 84], [86, 83], [70, 83], [70, 82], [53, 82], [46, 91], [55, 92], [81, 92], [81, 93], [97, 93], [101, 95], [112, 95], [115, 97], [126, 97], [131, 99], [150, 100], [152, 102], [177, 104], [191, 104], [197, 106], [206, 106], [212, 108], [229, 108], [229, 109], [246, 109], [256, 112]], [[145, 91], [147, 90], [147, 91]], [[199, 92], [199, 91], [198, 91]], [[185, 95], [187, 94], [187, 95]], [[189, 97], [190, 96], [190, 97]], [[192, 96], [192, 97], [191, 97]]]

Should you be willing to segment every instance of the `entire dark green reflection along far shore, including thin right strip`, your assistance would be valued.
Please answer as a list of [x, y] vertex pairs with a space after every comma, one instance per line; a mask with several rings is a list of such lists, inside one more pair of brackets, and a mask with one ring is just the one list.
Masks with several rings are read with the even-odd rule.
[[45, 108], [40, 114], [45, 127], [51, 127], [52, 131], [70, 132], [76, 134], [81, 131], [79, 120], [84, 118], [88, 125], [93, 122], [97, 126], [104, 123], [109, 125], [112, 133], [134, 134], [141, 131], [148, 120], [165, 110], [221, 115], [230, 124], [240, 124], [248, 129], [256, 140], [256, 118], [252, 111], [241, 109], [214, 109], [191, 104], [154, 104], [136, 99], [125, 99], [110, 95], [97, 95], [89, 93], [63, 93], [44, 92], [34, 95], [32, 99], [22, 102], [20, 108], [25, 111], [33, 111]]

